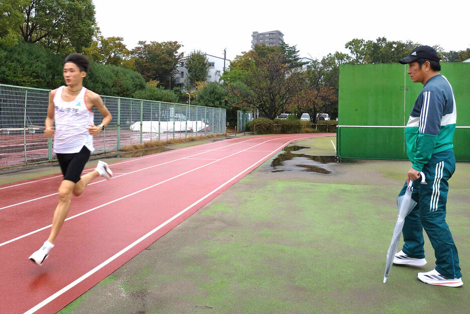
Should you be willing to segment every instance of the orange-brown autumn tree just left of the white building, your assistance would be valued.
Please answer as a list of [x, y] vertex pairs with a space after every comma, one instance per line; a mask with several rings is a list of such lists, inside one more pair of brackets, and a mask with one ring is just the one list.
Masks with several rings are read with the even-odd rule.
[[139, 41], [132, 50], [134, 67], [145, 81], [158, 80], [166, 88], [174, 86], [178, 65], [183, 52], [178, 53], [181, 44], [177, 41]]

